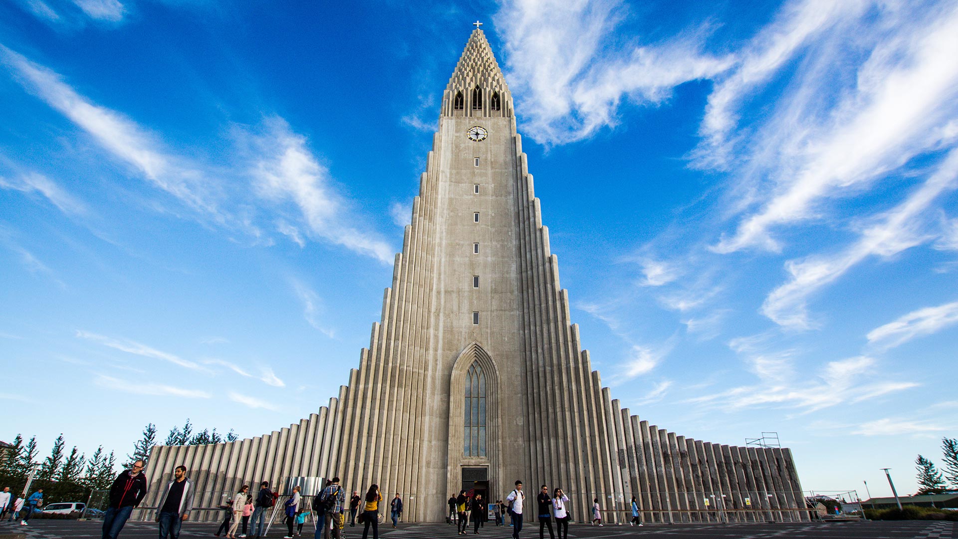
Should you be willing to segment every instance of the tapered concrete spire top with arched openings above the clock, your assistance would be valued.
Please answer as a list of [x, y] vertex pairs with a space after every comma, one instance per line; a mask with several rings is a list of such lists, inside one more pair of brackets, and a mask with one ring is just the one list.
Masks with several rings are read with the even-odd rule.
[[476, 28], [443, 92], [443, 116], [513, 116], [513, 96], [486, 34]]

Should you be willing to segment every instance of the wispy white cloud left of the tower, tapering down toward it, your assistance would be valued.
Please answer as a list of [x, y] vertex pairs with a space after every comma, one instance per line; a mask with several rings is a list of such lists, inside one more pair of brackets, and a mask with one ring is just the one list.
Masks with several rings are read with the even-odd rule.
[[383, 263], [393, 261], [388, 244], [353, 226], [345, 199], [332, 187], [329, 169], [309, 151], [306, 137], [289, 129], [282, 118], [272, 118], [250, 141], [257, 149], [250, 174], [262, 197], [294, 203], [316, 237]]

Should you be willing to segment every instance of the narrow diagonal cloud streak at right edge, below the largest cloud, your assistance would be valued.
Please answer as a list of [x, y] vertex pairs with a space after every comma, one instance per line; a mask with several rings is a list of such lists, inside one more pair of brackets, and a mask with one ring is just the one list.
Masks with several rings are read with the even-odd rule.
[[958, 150], [952, 150], [921, 187], [898, 206], [879, 216], [874, 224], [867, 225], [857, 242], [833, 254], [815, 254], [801, 261], [787, 262], [790, 279], [765, 298], [762, 306], [764, 316], [782, 326], [796, 329], [812, 327], [814, 323], [807, 312], [807, 301], [812, 293], [833, 283], [869, 256], [890, 257], [927, 242], [930, 238], [921, 231], [921, 223], [916, 222], [916, 216], [956, 184]]

